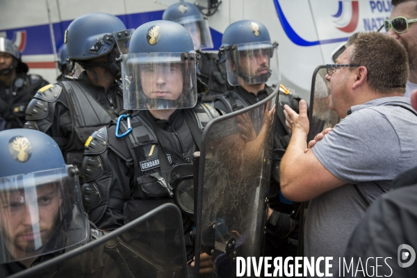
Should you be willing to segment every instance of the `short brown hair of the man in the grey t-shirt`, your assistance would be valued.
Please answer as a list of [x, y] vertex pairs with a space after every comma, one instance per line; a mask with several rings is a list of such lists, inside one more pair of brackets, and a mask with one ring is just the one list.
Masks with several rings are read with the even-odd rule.
[[405, 92], [409, 63], [407, 51], [398, 40], [383, 33], [358, 32], [347, 40], [346, 47], [351, 45], [350, 64], [366, 67], [371, 90], [383, 94]]

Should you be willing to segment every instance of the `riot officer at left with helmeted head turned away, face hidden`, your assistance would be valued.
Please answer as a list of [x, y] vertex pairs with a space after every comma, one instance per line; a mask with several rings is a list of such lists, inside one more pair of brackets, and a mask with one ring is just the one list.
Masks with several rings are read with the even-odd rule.
[[120, 53], [113, 33], [125, 29], [120, 19], [107, 13], [74, 19], [65, 31], [67, 54], [70, 64], [85, 71], [78, 79], [40, 89], [28, 106], [25, 128], [54, 138], [68, 164], [81, 167], [85, 140], [122, 110], [120, 66], [115, 60]]

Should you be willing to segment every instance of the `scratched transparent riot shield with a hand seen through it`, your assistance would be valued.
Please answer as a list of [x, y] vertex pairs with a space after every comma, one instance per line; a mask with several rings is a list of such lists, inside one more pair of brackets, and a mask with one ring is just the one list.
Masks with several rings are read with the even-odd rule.
[[195, 277], [236, 277], [236, 256], [261, 256], [276, 118], [271, 108], [277, 92], [216, 118], [204, 129]]

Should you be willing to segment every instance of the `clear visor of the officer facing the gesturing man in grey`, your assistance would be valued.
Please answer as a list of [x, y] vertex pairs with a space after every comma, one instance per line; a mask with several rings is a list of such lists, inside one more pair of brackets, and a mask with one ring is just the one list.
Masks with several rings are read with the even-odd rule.
[[230, 85], [277, 83], [280, 79], [278, 44], [253, 42], [226, 47], [227, 80]]

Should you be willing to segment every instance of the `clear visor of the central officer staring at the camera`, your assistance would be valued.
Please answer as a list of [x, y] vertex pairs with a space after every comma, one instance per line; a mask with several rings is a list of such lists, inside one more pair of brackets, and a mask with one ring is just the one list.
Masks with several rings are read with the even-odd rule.
[[138, 53], [122, 56], [124, 108], [192, 108], [197, 104], [196, 54]]

